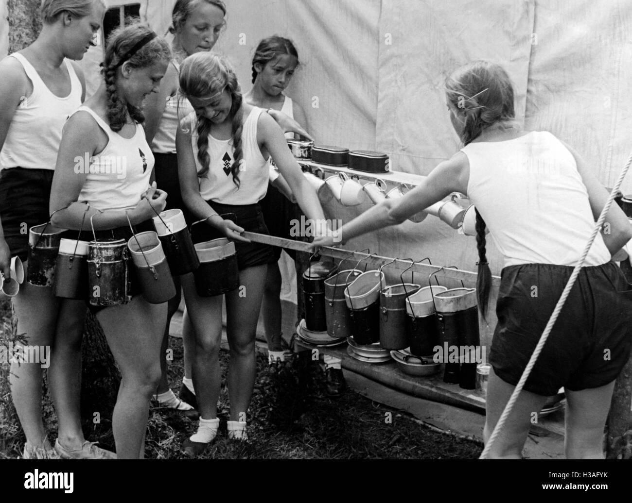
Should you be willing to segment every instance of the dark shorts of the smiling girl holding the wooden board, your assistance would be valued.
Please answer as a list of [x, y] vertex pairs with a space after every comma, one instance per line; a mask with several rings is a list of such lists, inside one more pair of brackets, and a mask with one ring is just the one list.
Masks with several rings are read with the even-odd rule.
[[[265, 226], [264, 215], [258, 204], [219, 204], [214, 201], [207, 201], [213, 210], [217, 211], [224, 219], [233, 220], [234, 223], [243, 227], [248, 232], [257, 232], [258, 234], [270, 234]], [[207, 223], [200, 223], [191, 228], [191, 238], [194, 243], [201, 243], [212, 239], [224, 237], [215, 228], [210, 227]], [[241, 270], [249, 267], [261, 266], [263, 264], [271, 264], [276, 260], [274, 258], [274, 250], [272, 246], [258, 243], [242, 243], [235, 241], [235, 249], [237, 251], [237, 263]]]

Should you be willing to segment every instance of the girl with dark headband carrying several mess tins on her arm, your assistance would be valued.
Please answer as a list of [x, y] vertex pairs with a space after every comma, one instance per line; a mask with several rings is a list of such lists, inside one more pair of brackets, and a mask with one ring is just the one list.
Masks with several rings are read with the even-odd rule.
[[[152, 218], [166, 205], [167, 194], [150, 186], [154, 156], [143, 131], [143, 99], [158, 91], [171, 51], [162, 38], [142, 25], [110, 35], [102, 64], [104, 82], [64, 127], [51, 206], [54, 225], [71, 229], [76, 239], [82, 222], [92, 220], [97, 240], [131, 237], [154, 230]], [[77, 164], [89, 159], [90, 165]], [[125, 172], [112, 170], [116, 160]], [[122, 175], [122, 176], [121, 176]], [[129, 220], [128, 220], [129, 219]], [[93, 240], [85, 228], [81, 240]], [[130, 271], [131, 301], [108, 307], [88, 306], [103, 328], [121, 371], [112, 430], [118, 459], [144, 456], [149, 401], [161, 376], [159, 352], [167, 304], [149, 304]], [[87, 288], [87, 286], [86, 286]]]

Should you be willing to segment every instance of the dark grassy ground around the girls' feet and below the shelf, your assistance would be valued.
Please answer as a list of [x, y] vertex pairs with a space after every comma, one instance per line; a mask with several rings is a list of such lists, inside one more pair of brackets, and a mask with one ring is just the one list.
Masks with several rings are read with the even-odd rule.
[[[10, 316], [0, 303], [0, 319]], [[182, 346], [171, 340], [174, 358], [169, 379], [174, 391], [182, 377]], [[222, 350], [222, 391], [218, 416], [226, 420], [229, 411], [226, 389], [228, 350]], [[6, 394], [6, 368], [0, 374], [0, 392]], [[8, 397], [5, 397], [8, 398]], [[7, 403], [0, 411], [0, 458], [17, 458], [23, 435]], [[248, 417], [248, 442], [229, 441], [222, 421], [216, 441], [202, 458], [209, 459], [475, 459], [482, 448], [428, 430], [398, 410], [375, 403], [353, 391], [337, 399], [324, 393], [324, 377], [317, 365], [295, 360], [278, 368], [267, 365], [257, 354], [257, 383]], [[54, 437], [56, 418], [49, 398], [44, 403], [44, 421]], [[89, 422], [87, 423], [90, 424]], [[192, 422], [174, 411], [152, 407], [148, 424], [147, 458], [181, 458], [179, 446], [196, 430]], [[85, 430], [87, 438], [113, 449], [109, 424]]]

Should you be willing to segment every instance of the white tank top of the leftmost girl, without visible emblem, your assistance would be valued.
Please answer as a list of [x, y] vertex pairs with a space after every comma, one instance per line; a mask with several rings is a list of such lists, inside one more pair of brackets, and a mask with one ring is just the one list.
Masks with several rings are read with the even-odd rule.
[[20, 61], [33, 85], [33, 92], [15, 110], [0, 151], [0, 168], [54, 170], [61, 130], [68, 117], [81, 105], [81, 82], [70, 61], [64, 59], [70, 75], [70, 94], [59, 98], [49, 90], [27, 58], [18, 52], [8, 57]]

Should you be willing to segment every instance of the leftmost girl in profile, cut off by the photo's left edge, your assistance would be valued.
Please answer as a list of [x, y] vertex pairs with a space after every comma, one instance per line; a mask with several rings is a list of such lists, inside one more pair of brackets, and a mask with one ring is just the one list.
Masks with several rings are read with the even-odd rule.
[[[49, 195], [62, 128], [83, 100], [83, 75], [70, 60], [80, 60], [94, 45], [105, 13], [101, 0], [46, 0], [41, 3], [42, 30], [37, 40], [0, 62], [0, 218], [11, 255], [28, 257], [28, 232], [49, 220]], [[78, 67], [77, 67], [78, 68]], [[2, 232], [0, 232], [0, 235]], [[0, 266], [8, 259], [0, 237]], [[28, 273], [28, 267], [25, 264]], [[58, 415], [54, 448], [41, 415], [42, 368], [11, 365], [11, 397], [27, 439], [24, 459], [113, 458], [87, 442], [78, 411], [80, 345], [85, 321], [83, 301], [58, 299], [49, 287], [25, 281], [12, 299], [16, 333], [27, 345], [50, 349], [56, 379], [49, 381]], [[44, 363], [44, 362], [43, 362]]]

